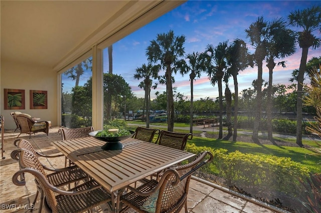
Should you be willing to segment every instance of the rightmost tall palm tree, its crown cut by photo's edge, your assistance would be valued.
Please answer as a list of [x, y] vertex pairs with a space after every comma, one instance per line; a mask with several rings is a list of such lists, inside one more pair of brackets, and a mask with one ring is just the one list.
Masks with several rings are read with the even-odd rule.
[[304, 72], [306, 69], [306, 60], [308, 48], [317, 48], [320, 46], [320, 38], [316, 38], [312, 32], [321, 31], [321, 7], [312, 6], [303, 10], [290, 12], [288, 15], [289, 24], [303, 28], [297, 32], [299, 46], [302, 48], [301, 61], [297, 76], [297, 105], [296, 105], [296, 143], [302, 144], [302, 88]]

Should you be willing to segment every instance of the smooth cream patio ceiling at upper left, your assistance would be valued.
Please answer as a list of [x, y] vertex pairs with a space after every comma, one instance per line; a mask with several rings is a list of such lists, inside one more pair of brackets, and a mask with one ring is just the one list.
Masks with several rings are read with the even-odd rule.
[[[184, 1], [1, 0], [0, 2], [1, 60], [58, 69], [95, 43], [117, 33], [119, 35], [116, 39], [119, 40]], [[119, 31], [126, 32], [119, 33]], [[111, 41], [116, 40], [113, 38]]]

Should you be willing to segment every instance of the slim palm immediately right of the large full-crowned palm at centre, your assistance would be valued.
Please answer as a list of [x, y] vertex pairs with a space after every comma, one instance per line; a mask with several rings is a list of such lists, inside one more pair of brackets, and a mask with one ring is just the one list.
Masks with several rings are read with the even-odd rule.
[[186, 55], [186, 59], [188, 59], [189, 65], [185, 63], [182, 66], [181, 74], [190, 73], [190, 81], [191, 81], [191, 105], [190, 105], [190, 132], [193, 133], [193, 81], [195, 77], [200, 77], [201, 72], [205, 70], [205, 66], [202, 60], [202, 55], [198, 52], [189, 53]]

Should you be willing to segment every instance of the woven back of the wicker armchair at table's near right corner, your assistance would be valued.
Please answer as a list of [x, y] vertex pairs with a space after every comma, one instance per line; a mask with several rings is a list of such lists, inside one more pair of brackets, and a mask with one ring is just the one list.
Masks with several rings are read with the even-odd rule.
[[[205, 159], [207, 154], [210, 158]], [[187, 199], [192, 173], [212, 159], [212, 153], [204, 151], [192, 162], [166, 170], [159, 180], [161, 187], [159, 187], [155, 212], [179, 212]]]

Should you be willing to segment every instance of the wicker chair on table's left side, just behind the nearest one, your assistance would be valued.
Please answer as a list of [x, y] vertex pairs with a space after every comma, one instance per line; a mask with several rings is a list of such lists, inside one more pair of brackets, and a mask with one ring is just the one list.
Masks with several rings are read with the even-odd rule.
[[[42, 156], [42, 157], [60, 157], [64, 156], [63, 154], [57, 154], [57, 155], [45, 155], [42, 154], [34, 149], [32, 144], [26, 140], [26, 139], [16, 139], [14, 141], [14, 145], [17, 146], [18, 149], [15, 149], [14, 151], [11, 152], [11, 157], [13, 159], [19, 160], [20, 152], [22, 149], [31, 151], [35, 156]], [[40, 161], [39, 161], [40, 162]], [[40, 162], [41, 163], [41, 162]], [[46, 165], [42, 164], [42, 167], [44, 170], [49, 170], [51, 173], [46, 174], [46, 177], [48, 178], [48, 181], [50, 184], [56, 187], [60, 187], [63, 185], [67, 185], [70, 188], [70, 183], [75, 183], [75, 185], [78, 184], [80, 180], [88, 181], [89, 176], [86, 172], [81, 170], [77, 166], [70, 166], [70, 167], [65, 167], [65, 168], [58, 168], [58, 169], [53, 169], [50, 167], [47, 167]], [[21, 174], [21, 178], [24, 179], [24, 174]], [[36, 203], [39, 192], [41, 193], [41, 201], [43, 200], [44, 197], [44, 192], [41, 190], [40, 187], [37, 187], [37, 192], [35, 195], [35, 199], [32, 202], [33, 204]], [[42, 206], [40, 206], [41, 208]]]

